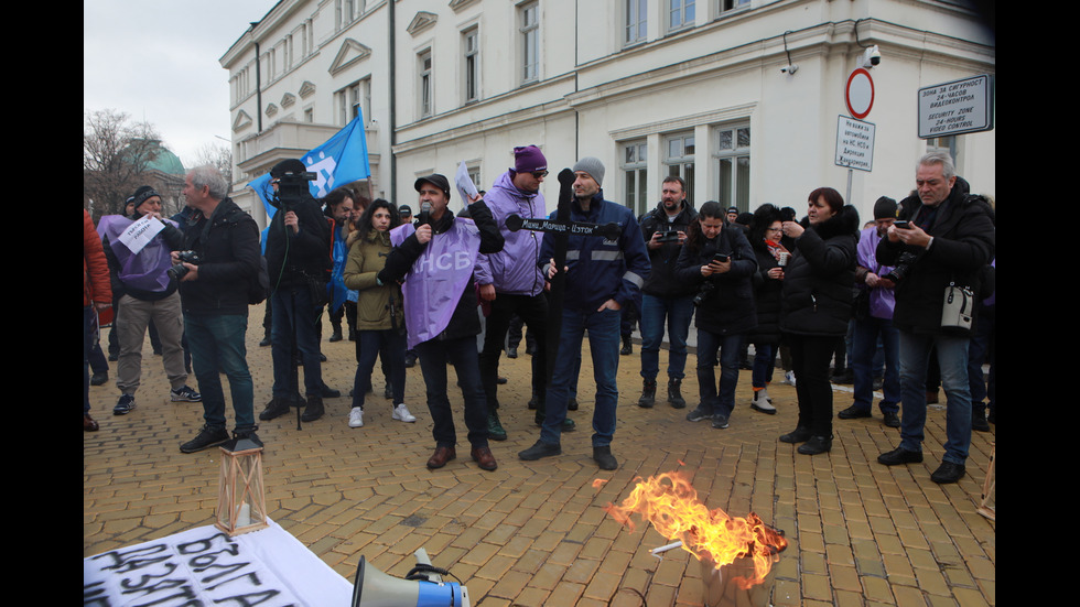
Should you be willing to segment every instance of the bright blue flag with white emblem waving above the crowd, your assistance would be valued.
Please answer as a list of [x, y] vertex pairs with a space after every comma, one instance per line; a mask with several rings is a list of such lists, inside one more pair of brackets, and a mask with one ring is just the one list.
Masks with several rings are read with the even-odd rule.
[[[307, 152], [300, 160], [309, 171], [317, 175], [315, 181], [311, 182], [311, 195], [315, 198], [322, 198], [339, 185], [370, 177], [364, 116], [358, 113], [344, 129], [326, 140], [326, 143]], [[248, 183], [248, 187], [259, 195], [267, 209], [267, 216], [272, 218], [277, 209], [270, 204], [273, 198], [270, 174], [252, 180]]]

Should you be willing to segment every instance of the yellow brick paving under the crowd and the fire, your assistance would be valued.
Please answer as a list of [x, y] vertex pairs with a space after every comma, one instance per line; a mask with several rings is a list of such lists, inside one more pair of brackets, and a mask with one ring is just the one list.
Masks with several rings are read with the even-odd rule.
[[[251, 308], [248, 362], [256, 413], [270, 399], [270, 348], [259, 347], [262, 307]], [[324, 319], [325, 323], [325, 319]], [[260, 422], [270, 517], [334, 571], [352, 581], [363, 555], [396, 576], [426, 549], [432, 562], [467, 586], [474, 605], [637, 606], [700, 605], [701, 572], [681, 550], [662, 560], [648, 549], [669, 540], [639, 524], [618, 524], [603, 507], [618, 502], [638, 477], [681, 470], [709, 508], [732, 516], [757, 512], [790, 541], [776, 564], [773, 605], [978, 607], [996, 604], [996, 523], [976, 512], [996, 429], [972, 434], [968, 474], [954, 485], [930, 481], [942, 454], [943, 407], [930, 408], [925, 462], [888, 468], [879, 453], [898, 444], [898, 431], [870, 420], [834, 420], [830, 454], [804, 456], [777, 436], [795, 427], [795, 389], [770, 388], [776, 415], [753, 411], [749, 371], [741, 371], [731, 427], [685, 421], [687, 410], [663, 402], [640, 409], [639, 346], [620, 357], [614, 471], [600, 470], [590, 446], [593, 387], [585, 346], [579, 429], [563, 435], [563, 455], [521, 462], [517, 453], [538, 437], [530, 395], [530, 357], [503, 358], [499, 389], [506, 442], [492, 442], [499, 468], [480, 470], [468, 456], [461, 392], [451, 402], [461, 444], [440, 470], [424, 463], [433, 449], [420, 367], [408, 371], [413, 424], [390, 419], [390, 401], [376, 370], [376, 391], [364, 427], [347, 425], [347, 397], [356, 369], [354, 344], [322, 342], [323, 378], [342, 391], [326, 399], [326, 415], [302, 423], [294, 414]], [[210, 524], [217, 502], [218, 451], [184, 455], [179, 446], [202, 426], [202, 405], [173, 403], [160, 357], [145, 344], [138, 408], [114, 416], [110, 381], [90, 388], [101, 430], [84, 432], [83, 555], [160, 539]], [[695, 357], [683, 395], [696, 403]], [[660, 368], [666, 366], [661, 353]], [[662, 375], [662, 371], [661, 371]], [[451, 381], [454, 375], [450, 373]], [[661, 378], [662, 379], [662, 378]], [[194, 376], [191, 386], [195, 386]], [[659, 392], [663, 392], [660, 382]], [[227, 381], [226, 381], [226, 394]], [[658, 394], [659, 397], [659, 394]], [[834, 410], [850, 404], [834, 392]], [[658, 399], [660, 401], [661, 399]], [[942, 394], [943, 402], [943, 394]], [[875, 402], [876, 407], [876, 402]], [[228, 411], [231, 422], [231, 411]], [[593, 480], [606, 483], [594, 488]]]

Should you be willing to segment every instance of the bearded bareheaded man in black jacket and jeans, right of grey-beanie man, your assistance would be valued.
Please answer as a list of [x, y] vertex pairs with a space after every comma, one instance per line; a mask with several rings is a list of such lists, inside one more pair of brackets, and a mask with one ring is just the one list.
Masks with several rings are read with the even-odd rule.
[[687, 182], [665, 177], [660, 203], [641, 218], [641, 234], [652, 271], [641, 286], [641, 398], [638, 407], [656, 403], [656, 376], [660, 372], [660, 344], [668, 326], [668, 403], [682, 409], [682, 379], [687, 367], [687, 335], [693, 316], [694, 289], [676, 280], [676, 262], [687, 241], [687, 230], [698, 213], [687, 202]]

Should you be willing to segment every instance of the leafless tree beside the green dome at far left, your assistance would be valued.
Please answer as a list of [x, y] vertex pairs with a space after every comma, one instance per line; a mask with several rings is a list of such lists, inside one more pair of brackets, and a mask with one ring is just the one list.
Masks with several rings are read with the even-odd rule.
[[83, 206], [93, 200], [95, 220], [123, 213], [123, 200], [159, 153], [161, 136], [112, 109], [87, 112], [83, 124]]

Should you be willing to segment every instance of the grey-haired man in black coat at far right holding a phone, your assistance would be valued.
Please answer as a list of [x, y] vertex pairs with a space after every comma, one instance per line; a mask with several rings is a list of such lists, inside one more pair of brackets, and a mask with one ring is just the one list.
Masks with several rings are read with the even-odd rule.
[[[946, 405], [944, 455], [930, 480], [957, 483], [971, 444], [968, 344], [983, 272], [996, 245], [994, 210], [969, 194], [948, 153], [924, 155], [916, 194], [900, 202], [897, 220], [877, 245], [877, 262], [896, 269], [893, 325], [900, 335], [900, 445], [879, 455], [886, 466], [922, 462], [926, 376], [937, 349]], [[960, 310], [966, 300], [966, 311]], [[966, 314], [966, 315], [965, 315]]]

